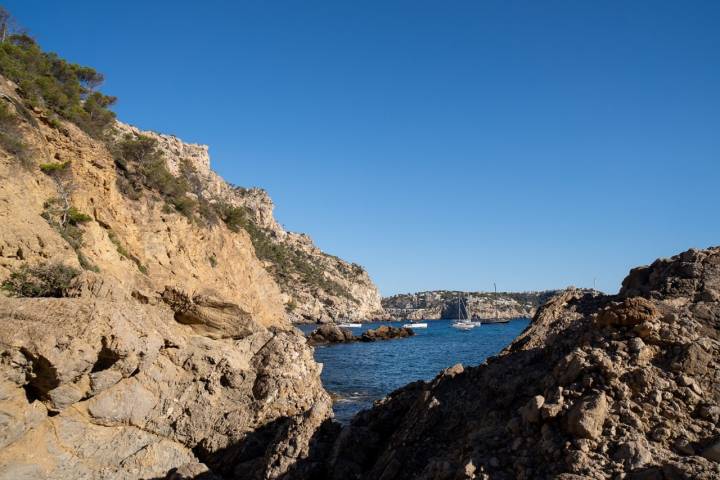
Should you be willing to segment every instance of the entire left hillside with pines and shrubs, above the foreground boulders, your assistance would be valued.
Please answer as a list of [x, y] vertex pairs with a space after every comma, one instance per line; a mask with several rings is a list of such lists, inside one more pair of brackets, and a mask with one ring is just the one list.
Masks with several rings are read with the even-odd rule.
[[26, 35], [1, 47], [0, 73], [15, 82], [0, 77], [0, 282], [49, 261], [83, 270], [102, 295], [181, 285], [219, 293], [265, 324], [382, 311], [362, 267], [286, 232], [265, 191], [211, 170], [208, 147], [116, 121], [115, 99], [94, 90], [100, 74]]

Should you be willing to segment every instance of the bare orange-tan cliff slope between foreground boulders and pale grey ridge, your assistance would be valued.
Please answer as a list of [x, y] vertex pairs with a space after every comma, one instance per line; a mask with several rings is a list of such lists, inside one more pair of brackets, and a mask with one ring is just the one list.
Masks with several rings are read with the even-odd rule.
[[[0, 93], [16, 95], [4, 81]], [[165, 211], [150, 195], [128, 198], [118, 189], [103, 143], [70, 123], [56, 129], [41, 120], [26, 125], [23, 138], [35, 151], [35, 165], [23, 168], [0, 152], [0, 281], [25, 263], [58, 261], [80, 268], [78, 252], [41, 216], [58, 189], [39, 165], [69, 161], [71, 203], [91, 217], [80, 227], [79, 253], [101, 273], [86, 275], [78, 294], [150, 299], [177, 286], [237, 304], [264, 325], [287, 325], [282, 294], [245, 232], [197, 225]], [[166, 156], [169, 162], [174, 158]]]

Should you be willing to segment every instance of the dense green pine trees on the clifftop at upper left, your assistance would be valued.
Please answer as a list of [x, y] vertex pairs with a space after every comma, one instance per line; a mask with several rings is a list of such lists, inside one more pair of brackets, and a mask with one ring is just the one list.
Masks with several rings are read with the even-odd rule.
[[[4, 9], [0, 13], [2, 29], [7, 31], [9, 14]], [[103, 82], [101, 73], [43, 52], [25, 33], [10, 31], [3, 36], [0, 74], [20, 87], [29, 106], [69, 120], [93, 137], [100, 138], [115, 119], [109, 110], [115, 97], [96, 91]]]

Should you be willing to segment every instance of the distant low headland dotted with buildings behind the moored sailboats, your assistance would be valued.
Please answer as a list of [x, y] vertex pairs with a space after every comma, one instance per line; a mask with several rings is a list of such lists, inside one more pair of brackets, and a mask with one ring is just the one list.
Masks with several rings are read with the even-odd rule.
[[556, 293], [556, 290], [497, 294], [434, 290], [385, 297], [382, 305], [387, 316], [395, 320], [468, 318], [468, 313], [473, 318], [510, 319], [532, 317], [537, 308]]

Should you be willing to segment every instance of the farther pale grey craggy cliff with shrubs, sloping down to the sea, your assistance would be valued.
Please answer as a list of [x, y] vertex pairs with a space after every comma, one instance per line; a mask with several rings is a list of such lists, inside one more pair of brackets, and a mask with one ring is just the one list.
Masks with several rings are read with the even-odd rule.
[[[218, 211], [231, 230], [246, 232], [255, 254], [280, 287], [292, 322], [369, 319], [382, 314], [380, 294], [367, 272], [317, 248], [305, 234], [286, 231], [265, 190], [231, 185], [210, 168], [208, 147], [117, 123], [117, 138], [152, 139], [171, 174], [187, 180], [189, 195]], [[222, 222], [220, 222], [222, 223]]]

